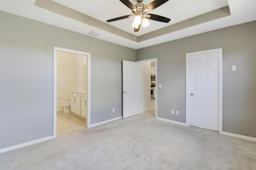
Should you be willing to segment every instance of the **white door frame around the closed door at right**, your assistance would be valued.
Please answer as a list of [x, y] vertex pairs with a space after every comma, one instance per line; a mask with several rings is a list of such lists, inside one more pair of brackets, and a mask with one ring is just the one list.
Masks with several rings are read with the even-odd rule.
[[217, 52], [218, 55], [218, 115], [219, 115], [219, 133], [222, 134], [222, 48], [219, 49], [212, 49], [212, 50], [205, 50], [205, 51], [198, 51], [194, 53], [186, 53], [186, 126], [190, 125], [190, 110], [189, 110], [189, 87], [190, 87], [190, 57], [194, 55], [200, 55], [205, 53], [213, 53]]

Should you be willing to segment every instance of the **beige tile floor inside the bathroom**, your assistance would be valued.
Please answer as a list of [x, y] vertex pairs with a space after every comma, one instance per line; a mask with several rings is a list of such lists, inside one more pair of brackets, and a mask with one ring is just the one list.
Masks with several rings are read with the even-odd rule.
[[79, 117], [72, 112], [63, 113], [63, 111], [58, 111], [56, 125], [56, 135], [59, 136], [85, 128], [86, 119], [83, 119], [82, 117]]

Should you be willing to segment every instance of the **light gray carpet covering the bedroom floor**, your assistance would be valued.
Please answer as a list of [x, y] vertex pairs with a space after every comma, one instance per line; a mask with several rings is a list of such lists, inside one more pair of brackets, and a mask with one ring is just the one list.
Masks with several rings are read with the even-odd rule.
[[1, 170], [256, 170], [256, 142], [148, 111], [0, 154]]

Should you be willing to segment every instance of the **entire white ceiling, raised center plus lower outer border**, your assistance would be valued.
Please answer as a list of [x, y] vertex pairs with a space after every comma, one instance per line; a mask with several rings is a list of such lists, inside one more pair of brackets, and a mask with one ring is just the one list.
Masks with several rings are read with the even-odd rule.
[[[119, 0], [53, 1], [83, 14], [86, 14], [87, 16], [91, 16], [96, 20], [100, 20], [118, 29], [133, 34], [134, 39], [137, 38], [136, 36], [150, 33], [151, 31], [161, 29], [174, 23], [178, 23], [180, 21], [184, 21], [189, 18], [204, 14], [206, 12], [222, 8], [224, 6], [229, 6], [231, 15], [178, 31], [174, 31], [172, 33], [167, 33], [159, 37], [147, 39], [138, 43], [136, 41], [132, 41], [124, 37], [115, 35], [114, 33], [105, 31], [100, 27], [94, 27], [92, 26], [92, 24], [88, 25], [86, 23], [82, 23], [80, 21], [61, 16], [60, 14], [50, 12], [43, 8], [39, 8], [38, 6], [34, 6], [35, 0], [0, 0], [0, 10], [16, 14], [18, 16], [30, 18], [32, 20], [37, 20], [72, 31], [76, 31], [85, 35], [88, 35], [87, 33], [89, 31], [95, 30], [102, 33], [96, 38], [110, 41], [112, 43], [120, 44], [133, 49], [140, 49], [143, 47], [148, 47], [150, 45], [155, 45], [166, 41], [172, 41], [174, 39], [179, 39], [198, 33], [204, 33], [223, 27], [256, 20], [256, 0], [169, 0], [162, 6], [159, 6], [158, 8], [149, 12], [152, 14], [170, 18], [171, 21], [169, 23], [149, 20], [150, 25], [148, 27], [141, 27], [140, 31], [134, 33], [134, 29], [131, 26], [134, 18], [126, 18], [123, 20], [113, 21], [109, 23], [106, 22], [106, 20], [112, 18], [132, 14], [131, 10], [127, 6], [122, 4], [122, 2], [120, 2]], [[153, 0], [144, 0], [142, 3], [147, 5], [152, 1]], [[136, 0], [130, 0], [130, 2], [136, 4]]]

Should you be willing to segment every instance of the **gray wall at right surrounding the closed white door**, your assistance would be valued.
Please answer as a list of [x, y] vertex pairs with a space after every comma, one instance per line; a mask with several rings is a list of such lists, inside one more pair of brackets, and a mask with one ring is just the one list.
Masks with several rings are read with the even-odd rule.
[[185, 123], [186, 53], [223, 48], [223, 131], [256, 137], [255, 28], [252, 21], [136, 50], [138, 61], [158, 56], [158, 116]]

